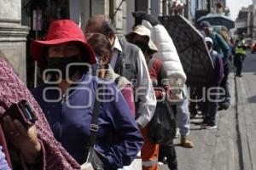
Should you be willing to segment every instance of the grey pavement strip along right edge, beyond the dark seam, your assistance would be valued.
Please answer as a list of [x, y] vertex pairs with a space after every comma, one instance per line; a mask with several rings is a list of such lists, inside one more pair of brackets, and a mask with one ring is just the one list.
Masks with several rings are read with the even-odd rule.
[[256, 170], [256, 75], [236, 78], [238, 130], [241, 141], [241, 169]]

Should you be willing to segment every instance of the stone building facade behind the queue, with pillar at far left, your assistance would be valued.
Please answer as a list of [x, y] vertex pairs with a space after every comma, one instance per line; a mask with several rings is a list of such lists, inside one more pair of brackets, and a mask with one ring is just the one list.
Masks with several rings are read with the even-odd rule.
[[[155, 16], [173, 14], [175, 9], [187, 18], [190, 0], [1, 0], [0, 49], [7, 56], [22, 81], [32, 84], [34, 62], [26, 50], [32, 40], [44, 39], [51, 20], [71, 19], [84, 29], [86, 21], [94, 14], [106, 14], [114, 20], [117, 34], [123, 36], [134, 25], [131, 15], [143, 10]], [[34, 29], [35, 14], [41, 13], [39, 29]], [[36, 17], [37, 18], [37, 17]], [[38, 20], [37, 20], [38, 22]]]

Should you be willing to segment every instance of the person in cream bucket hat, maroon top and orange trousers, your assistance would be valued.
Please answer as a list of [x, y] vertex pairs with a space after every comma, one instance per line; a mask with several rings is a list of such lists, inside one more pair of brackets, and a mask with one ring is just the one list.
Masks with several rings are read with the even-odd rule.
[[[145, 26], [137, 25], [136, 27], [134, 27], [133, 31], [131, 31], [131, 33], [129, 33], [125, 37], [128, 42], [136, 44], [143, 51], [146, 62], [148, 64], [149, 75], [153, 82], [154, 93], [156, 99], [159, 99], [158, 102], [162, 102], [161, 100], [163, 99], [170, 99], [171, 88], [168, 83], [165, 83], [167, 77], [166, 70], [162, 65], [161, 61], [153, 57], [153, 54], [157, 52], [158, 48], [156, 48], [154, 42], [152, 42], [151, 40], [150, 30], [148, 30], [148, 28], [146, 28]], [[142, 149], [143, 170], [157, 170], [160, 145], [154, 144], [150, 141], [150, 139], [148, 139], [148, 133], [154, 133], [149, 132], [148, 130], [148, 126], [142, 129], [144, 138], [144, 144]], [[177, 167], [177, 162], [173, 161], [176, 160], [176, 155], [174, 155], [176, 153], [174, 145], [170, 144], [168, 146], [164, 146], [164, 148], [166, 148], [166, 150], [172, 150], [173, 159], [172, 162], [170, 162], [170, 156], [168, 156], [168, 164], [172, 167]], [[169, 152], [168, 154], [170, 155], [171, 153]]]

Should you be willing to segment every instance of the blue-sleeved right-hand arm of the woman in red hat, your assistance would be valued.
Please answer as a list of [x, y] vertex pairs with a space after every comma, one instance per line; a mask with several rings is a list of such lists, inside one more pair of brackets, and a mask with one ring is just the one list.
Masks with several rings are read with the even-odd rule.
[[130, 165], [143, 147], [142, 134], [123, 95], [117, 89], [115, 97], [117, 100], [103, 104], [116, 137], [105, 154], [113, 169]]

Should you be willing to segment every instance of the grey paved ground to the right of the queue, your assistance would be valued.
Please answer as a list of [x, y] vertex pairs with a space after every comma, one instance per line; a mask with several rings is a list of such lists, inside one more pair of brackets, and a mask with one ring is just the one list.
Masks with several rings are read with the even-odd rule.
[[256, 54], [247, 54], [243, 75], [230, 74], [231, 106], [218, 112], [218, 129], [201, 130], [196, 117], [190, 134], [195, 148], [175, 140], [179, 170], [256, 170]]

